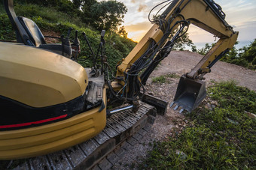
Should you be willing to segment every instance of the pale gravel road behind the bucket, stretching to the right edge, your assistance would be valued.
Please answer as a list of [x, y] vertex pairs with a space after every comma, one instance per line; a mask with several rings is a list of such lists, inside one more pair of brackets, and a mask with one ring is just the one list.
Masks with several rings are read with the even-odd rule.
[[[169, 57], [161, 62], [160, 68], [155, 70], [151, 76], [160, 76], [166, 73], [182, 75], [190, 72], [202, 57], [203, 55], [189, 51], [171, 52]], [[256, 91], [256, 71], [223, 61], [218, 61], [212, 67], [212, 72], [206, 75], [206, 82], [209, 82], [210, 79], [214, 79], [217, 82], [234, 79], [239, 85]]]

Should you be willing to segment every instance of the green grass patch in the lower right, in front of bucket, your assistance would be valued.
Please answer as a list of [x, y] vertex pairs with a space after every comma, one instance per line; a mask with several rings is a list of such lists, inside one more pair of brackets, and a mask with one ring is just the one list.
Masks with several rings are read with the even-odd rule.
[[[185, 115], [188, 126], [156, 142], [140, 169], [256, 169], [256, 93], [221, 82], [209, 88], [209, 99]], [[206, 103], [217, 102], [215, 109]]]

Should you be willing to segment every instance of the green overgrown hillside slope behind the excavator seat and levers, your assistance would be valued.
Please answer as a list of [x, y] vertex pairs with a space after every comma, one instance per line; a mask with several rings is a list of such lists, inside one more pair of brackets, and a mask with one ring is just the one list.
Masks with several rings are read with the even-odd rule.
[[[90, 67], [92, 61], [87, 59], [90, 57], [90, 50], [85, 43], [84, 37], [81, 33], [84, 31], [91, 43], [91, 46], [96, 52], [100, 42], [100, 32], [93, 30], [93, 28], [87, 28], [79, 19], [72, 18], [72, 16], [66, 13], [61, 13], [48, 7], [39, 7], [35, 4], [15, 6], [17, 16], [26, 16], [32, 19], [42, 31], [55, 31], [58, 34], [64, 34], [66, 36], [70, 27], [74, 30], [78, 30], [78, 38], [81, 41], [81, 58], [79, 63], [84, 67]], [[72, 31], [71, 37], [75, 37], [75, 31]], [[8, 16], [0, 5], [0, 39], [3, 40], [15, 40], [14, 30], [11, 28], [11, 22], [8, 20]], [[114, 69], [115, 65], [121, 58], [125, 58], [129, 54], [131, 49], [136, 46], [136, 43], [132, 40], [120, 37], [118, 34], [106, 34], [105, 35], [105, 55], [108, 57], [108, 63]]]

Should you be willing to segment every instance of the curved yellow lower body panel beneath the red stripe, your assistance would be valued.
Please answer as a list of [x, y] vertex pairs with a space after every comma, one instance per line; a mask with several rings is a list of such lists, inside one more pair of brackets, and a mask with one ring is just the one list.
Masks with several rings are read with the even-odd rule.
[[[105, 93], [104, 88], [106, 104]], [[98, 112], [99, 108], [53, 124], [0, 132], [0, 160], [49, 154], [93, 138], [106, 124], [106, 109]]]

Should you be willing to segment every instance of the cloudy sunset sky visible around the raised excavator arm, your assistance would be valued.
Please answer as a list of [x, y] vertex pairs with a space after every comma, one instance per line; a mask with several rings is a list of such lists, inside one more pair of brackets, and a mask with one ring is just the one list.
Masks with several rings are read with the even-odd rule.
[[[124, 18], [128, 37], [139, 41], [143, 35], [151, 28], [148, 21], [149, 11], [161, 0], [118, 0], [128, 8]], [[226, 21], [233, 26], [235, 31], [239, 31], [239, 41], [252, 41], [256, 38], [256, 1], [255, 0], [215, 0], [220, 4]], [[212, 34], [190, 25], [188, 31], [190, 39], [194, 43], [213, 42], [215, 38]]]

